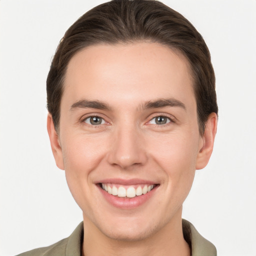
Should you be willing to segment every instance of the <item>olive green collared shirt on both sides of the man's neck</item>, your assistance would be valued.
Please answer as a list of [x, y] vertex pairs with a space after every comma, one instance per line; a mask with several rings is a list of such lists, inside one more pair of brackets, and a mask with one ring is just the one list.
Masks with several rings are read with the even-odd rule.
[[[195, 227], [187, 220], [182, 220], [185, 240], [191, 249], [191, 256], [216, 256], [215, 246], [203, 238]], [[81, 256], [83, 240], [83, 222], [81, 222], [70, 236], [50, 246], [29, 250], [17, 256]]]

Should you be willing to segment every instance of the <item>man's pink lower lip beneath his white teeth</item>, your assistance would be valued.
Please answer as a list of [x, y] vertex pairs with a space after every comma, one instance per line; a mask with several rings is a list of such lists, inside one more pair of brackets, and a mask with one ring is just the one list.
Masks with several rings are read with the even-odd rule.
[[145, 194], [141, 194], [135, 197], [118, 197], [116, 195], [109, 194], [104, 189], [101, 188], [100, 185], [98, 185], [99, 191], [104, 196], [104, 198], [112, 204], [114, 207], [122, 208], [122, 209], [132, 209], [136, 208], [143, 203], [145, 203], [156, 191], [158, 186], [155, 186], [152, 190]]

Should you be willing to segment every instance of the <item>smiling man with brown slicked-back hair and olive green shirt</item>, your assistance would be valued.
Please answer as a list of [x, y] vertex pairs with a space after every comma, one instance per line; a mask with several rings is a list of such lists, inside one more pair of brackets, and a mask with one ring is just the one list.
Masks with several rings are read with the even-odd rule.
[[181, 218], [213, 148], [214, 83], [202, 37], [161, 2], [81, 16], [52, 60], [47, 129], [83, 222], [22, 255], [216, 255]]

